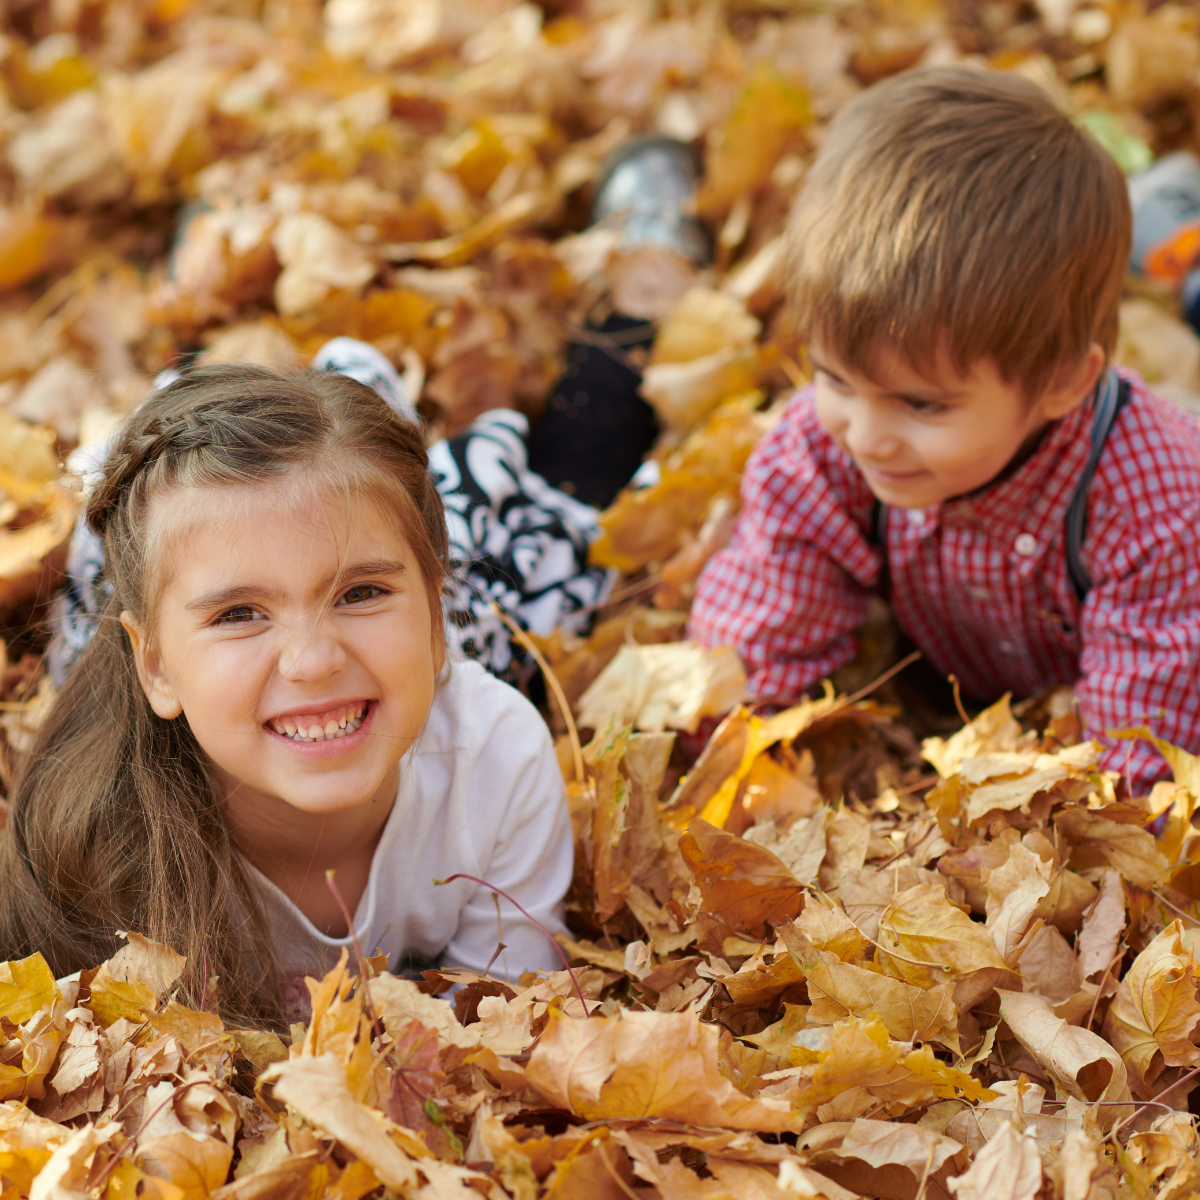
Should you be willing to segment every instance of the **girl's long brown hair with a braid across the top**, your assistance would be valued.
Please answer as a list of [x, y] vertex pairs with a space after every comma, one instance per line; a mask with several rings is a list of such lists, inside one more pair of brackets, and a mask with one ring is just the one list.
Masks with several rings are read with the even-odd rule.
[[246, 486], [302, 469], [395, 512], [434, 606], [446, 559], [442, 502], [420, 431], [338, 374], [222, 365], [184, 376], [122, 426], [88, 503], [110, 595], [96, 636], [38, 732], [0, 834], [0, 960], [40, 950], [58, 976], [136, 930], [187, 956], [184, 1001], [216, 976], [227, 1020], [281, 1020], [271, 936], [185, 716], [138, 683], [120, 613], [154, 637], [169, 487]]

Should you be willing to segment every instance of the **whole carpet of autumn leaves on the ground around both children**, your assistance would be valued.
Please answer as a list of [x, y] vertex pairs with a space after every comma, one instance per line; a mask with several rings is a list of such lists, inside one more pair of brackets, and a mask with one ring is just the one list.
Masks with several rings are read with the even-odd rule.
[[[136, 932], [70, 983], [0, 965], [0, 1200], [1200, 1194], [1200, 763], [1162, 748], [1175, 784], [1129, 797], [1063, 695], [922, 744], [928, 713], [853, 695], [892, 656], [881, 617], [840, 692], [734, 709], [697, 760], [686, 731], [739, 667], [678, 644], [805, 376], [776, 239], [830, 115], [972, 58], [1136, 169], [1198, 144], [1193, 8], [13, 0], [0, 20], [5, 781], [52, 695], [61, 463], [181, 354], [288, 366], [365, 337], [437, 436], [535, 415], [566, 341], [619, 310], [659, 322], [665, 426], [659, 481], [595, 547], [613, 602], [590, 638], [539, 643], [575, 718], [551, 698], [574, 976], [348, 962], [278, 1037], [182, 1008], [178, 958]], [[584, 228], [604, 157], [650, 131], [702, 151], [713, 268]], [[1144, 281], [1120, 358], [1196, 403], [1200, 342]]]

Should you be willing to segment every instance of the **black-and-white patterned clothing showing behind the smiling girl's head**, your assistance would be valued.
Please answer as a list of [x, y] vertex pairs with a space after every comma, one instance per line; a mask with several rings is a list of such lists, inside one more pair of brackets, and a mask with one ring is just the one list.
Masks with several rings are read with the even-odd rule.
[[[338, 337], [313, 360], [373, 388], [400, 415], [416, 413], [391, 362], [373, 346]], [[164, 386], [176, 378], [164, 372]], [[450, 653], [515, 678], [523, 654], [492, 608], [494, 601], [521, 626], [547, 635], [557, 626], [586, 632], [612, 586], [612, 572], [588, 566], [598, 512], [551, 487], [528, 469], [528, 421], [521, 413], [484, 413], [464, 432], [430, 448], [430, 469], [445, 505], [451, 576], [443, 592]], [[84, 446], [70, 466], [94, 484], [110, 442]], [[67, 586], [55, 601], [49, 670], [61, 683], [96, 629], [103, 602], [104, 552], [80, 516], [67, 554]]]

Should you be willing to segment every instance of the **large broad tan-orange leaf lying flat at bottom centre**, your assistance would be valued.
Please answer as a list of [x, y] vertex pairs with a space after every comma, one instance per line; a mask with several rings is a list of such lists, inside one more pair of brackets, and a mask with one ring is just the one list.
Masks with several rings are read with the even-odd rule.
[[691, 1126], [780, 1132], [803, 1117], [751, 1099], [718, 1069], [718, 1033], [695, 1013], [635, 1013], [572, 1021], [552, 1012], [526, 1078], [586, 1121], [661, 1117]]

